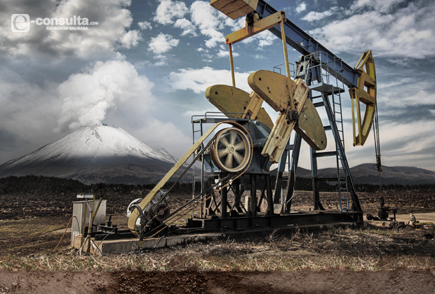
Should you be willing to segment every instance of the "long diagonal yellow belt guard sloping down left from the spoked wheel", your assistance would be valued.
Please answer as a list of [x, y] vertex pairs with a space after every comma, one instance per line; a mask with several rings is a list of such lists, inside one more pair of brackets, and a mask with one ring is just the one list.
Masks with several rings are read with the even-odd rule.
[[[210, 129], [208, 129], [208, 131], [204, 133], [203, 136], [199, 138], [199, 140], [196, 141], [194, 145], [192, 145], [192, 147], [189, 148], [189, 150], [185, 153], [185, 155], [183, 155], [182, 158], [178, 160], [178, 162], [173, 166], [173, 168], [170, 169], [168, 174], [166, 174], [163, 177], [163, 179], [161, 179], [161, 181], [159, 181], [159, 183], [151, 190], [151, 192], [149, 192], [148, 195], [145, 196], [145, 198], [139, 203], [139, 206], [140, 208], [142, 208], [142, 210], [145, 209], [145, 207], [147, 207], [149, 202], [151, 202], [154, 199], [154, 197], [156, 196], [157, 193], [159, 193], [161, 188], [163, 188], [163, 186], [170, 180], [170, 178], [172, 178], [174, 174], [178, 172], [178, 169], [180, 169], [182, 165], [185, 164], [185, 162], [190, 158], [190, 156], [192, 156], [192, 154], [196, 151], [196, 149], [198, 149], [199, 146], [201, 146], [203, 141], [205, 141], [207, 137], [210, 136], [210, 134], [220, 124], [222, 123], [216, 123], [215, 125], [210, 127]], [[128, 218], [128, 228], [135, 234], [136, 234], [136, 221], [138, 220], [138, 218], [139, 218], [138, 209], [135, 209], [131, 213], [130, 217]]]

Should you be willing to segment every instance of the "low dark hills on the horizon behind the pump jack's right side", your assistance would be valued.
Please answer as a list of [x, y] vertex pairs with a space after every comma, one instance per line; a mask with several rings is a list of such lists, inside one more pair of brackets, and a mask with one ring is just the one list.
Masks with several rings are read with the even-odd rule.
[[[364, 163], [351, 167], [350, 173], [354, 183], [368, 183], [379, 185], [401, 184], [401, 185], [418, 185], [418, 184], [434, 184], [435, 172], [418, 167], [382, 167], [382, 173], [379, 175], [374, 163]], [[311, 171], [302, 167], [297, 167], [296, 176], [302, 178], [311, 177]], [[319, 169], [319, 177], [334, 177], [337, 176], [337, 169], [326, 168]]]

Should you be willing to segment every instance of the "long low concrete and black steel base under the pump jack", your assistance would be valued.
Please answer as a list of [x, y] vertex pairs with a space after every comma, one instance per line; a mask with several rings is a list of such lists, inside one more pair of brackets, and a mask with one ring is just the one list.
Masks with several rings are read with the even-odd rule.
[[[204, 228], [198, 228], [202, 224]], [[191, 225], [191, 228], [177, 228], [174, 232], [171, 232], [171, 230], [161, 232], [161, 236], [146, 238], [142, 241], [142, 244], [140, 244], [139, 238], [106, 239], [104, 241], [91, 238], [93, 244], [91, 244], [90, 253], [95, 255], [139, 253], [159, 248], [228, 238], [267, 237], [272, 233], [291, 234], [299, 230], [304, 232], [332, 228], [361, 228], [363, 224], [362, 212], [340, 213], [340, 211], [310, 211], [281, 216], [242, 216], [223, 219], [190, 218], [188, 219], [188, 225]], [[80, 240], [81, 235], [74, 237], [72, 244], [74, 248], [79, 249], [81, 247]], [[85, 244], [82, 252], [86, 251], [87, 246]]]

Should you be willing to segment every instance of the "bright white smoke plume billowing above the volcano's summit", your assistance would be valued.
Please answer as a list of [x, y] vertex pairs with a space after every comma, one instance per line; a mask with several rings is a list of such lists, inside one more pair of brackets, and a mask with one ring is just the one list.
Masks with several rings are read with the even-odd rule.
[[63, 104], [56, 131], [100, 123], [116, 102], [141, 99], [142, 105], [149, 104], [153, 99], [153, 86], [147, 77], [139, 76], [129, 62], [96, 62], [93, 68], [73, 74], [59, 85]]

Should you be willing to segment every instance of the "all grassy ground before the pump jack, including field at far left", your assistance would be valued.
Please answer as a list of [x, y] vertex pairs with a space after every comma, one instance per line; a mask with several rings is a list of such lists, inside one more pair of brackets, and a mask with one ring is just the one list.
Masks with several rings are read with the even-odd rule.
[[[297, 269], [428, 269], [435, 264], [435, 240], [414, 229], [352, 230], [337, 228], [322, 232], [264, 238], [225, 239], [207, 244], [189, 244], [156, 249], [142, 255], [79, 256], [69, 248], [66, 236], [60, 252], [51, 253], [65, 228], [67, 218], [32, 218], [0, 221], [0, 269], [48, 271], [293, 271]], [[126, 220], [119, 214], [116, 224]], [[126, 225], [124, 222], [123, 225]], [[23, 237], [25, 236], [25, 237]], [[21, 243], [19, 242], [21, 241]], [[33, 254], [32, 254], [33, 253]], [[22, 255], [26, 255], [24, 257]]]

